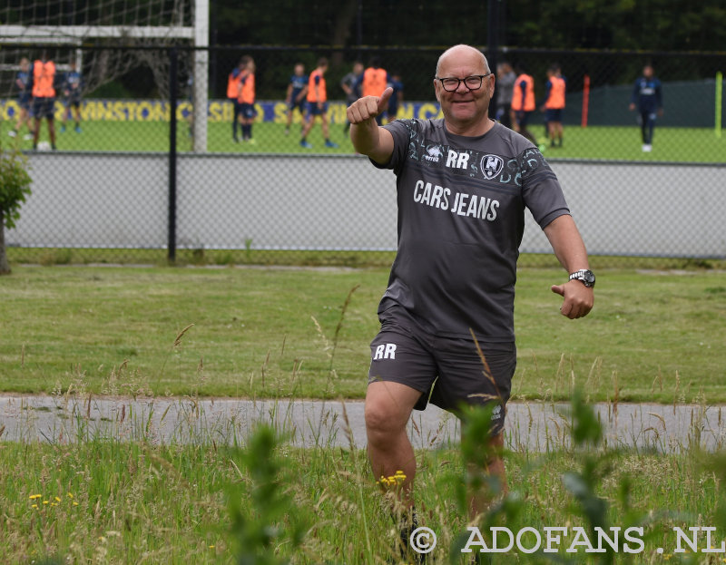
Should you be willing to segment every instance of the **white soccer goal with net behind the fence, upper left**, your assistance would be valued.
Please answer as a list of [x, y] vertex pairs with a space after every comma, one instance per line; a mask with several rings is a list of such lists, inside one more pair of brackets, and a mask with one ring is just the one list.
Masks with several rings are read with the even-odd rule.
[[83, 72], [84, 92], [145, 64], [152, 70], [159, 93], [168, 98], [168, 48], [195, 47], [181, 52], [179, 76], [193, 77], [189, 81], [193, 147], [206, 151], [209, 0], [21, 0], [0, 5], [0, 22], [0, 76], [5, 97], [12, 96], [20, 61], [37, 58], [44, 51], [59, 71], [67, 70], [74, 61]]

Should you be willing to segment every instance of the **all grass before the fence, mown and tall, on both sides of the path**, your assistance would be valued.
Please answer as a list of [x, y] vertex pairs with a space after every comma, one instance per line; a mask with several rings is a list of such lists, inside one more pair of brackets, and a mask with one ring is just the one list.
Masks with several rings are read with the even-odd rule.
[[[598, 276], [593, 313], [571, 321], [549, 290], [562, 271], [520, 270], [515, 398], [569, 399], [577, 387], [589, 400], [726, 401], [726, 273]], [[0, 278], [0, 390], [53, 392], [78, 405], [84, 391], [151, 404], [167, 394], [360, 397], [387, 278], [385, 268], [15, 267]], [[596, 439], [594, 417], [577, 406], [573, 429]], [[3, 563], [400, 565], [391, 560], [397, 530], [358, 449], [301, 449], [264, 431], [218, 445], [191, 426], [186, 440], [165, 446], [152, 443], [153, 431], [128, 442], [12, 443], [1, 441], [2, 415]], [[427, 565], [470, 563], [458, 549], [477, 442], [470, 433], [460, 450], [416, 453], [419, 520], [438, 542]], [[702, 552], [703, 532], [694, 552], [673, 528], [713, 527], [719, 548], [726, 460], [682, 447], [551, 443], [547, 453], [521, 445], [505, 453], [510, 494], [486, 513], [483, 531], [526, 527], [544, 537], [544, 528], [565, 527], [570, 537], [556, 553], [515, 549], [491, 562], [723, 562], [726, 551]], [[626, 553], [621, 537], [616, 554], [565, 551], [575, 527], [593, 535], [595, 524], [643, 527], [643, 546]]]

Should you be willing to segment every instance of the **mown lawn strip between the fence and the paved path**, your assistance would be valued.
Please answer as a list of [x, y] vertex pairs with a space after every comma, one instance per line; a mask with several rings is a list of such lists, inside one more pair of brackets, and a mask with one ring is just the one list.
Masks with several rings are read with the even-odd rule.
[[[0, 278], [0, 390], [365, 394], [388, 269], [15, 267]], [[521, 269], [516, 398], [726, 402], [726, 273], [598, 271], [568, 320], [559, 269]], [[486, 351], [485, 351], [486, 354]]]

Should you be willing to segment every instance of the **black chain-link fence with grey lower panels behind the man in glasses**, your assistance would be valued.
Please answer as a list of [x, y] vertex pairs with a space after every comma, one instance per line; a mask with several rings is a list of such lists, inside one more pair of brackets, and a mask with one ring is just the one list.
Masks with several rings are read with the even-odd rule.
[[[435, 118], [441, 51], [211, 48], [209, 95], [194, 100], [192, 49], [6, 44], [0, 140], [27, 151], [34, 180], [7, 233], [10, 258], [389, 263], [395, 180], [355, 154], [341, 84], [354, 84], [356, 62], [378, 58], [397, 83], [395, 117]], [[55, 65], [54, 139], [46, 120], [33, 139], [35, 119], [24, 120], [33, 102], [20, 89], [21, 62], [43, 52]], [[245, 56], [254, 63], [254, 102], [238, 104], [238, 116], [230, 95], [241, 91], [230, 77]], [[317, 117], [302, 138], [304, 104], [290, 104], [289, 89], [296, 64], [307, 76], [321, 57], [329, 61], [328, 132]], [[493, 59], [534, 78], [529, 131], [563, 184], [588, 250], [603, 256], [599, 264], [613, 256], [726, 258], [722, 56], [503, 50]], [[104, 81], [104, 65], [120, 61], [123, 73]], [[630, 109], [646, 63], [662, 83], [650, 148], [640, 112]], [[567, 85], [561, 147], [547, 138], [539, 110], [553, 65]], [[522, 251], [535, 263], [553, 261], [531, 219]]]

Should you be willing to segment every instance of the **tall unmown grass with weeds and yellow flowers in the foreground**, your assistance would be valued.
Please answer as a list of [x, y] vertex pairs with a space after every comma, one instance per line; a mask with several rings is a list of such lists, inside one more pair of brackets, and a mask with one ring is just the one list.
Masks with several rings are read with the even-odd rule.
[[[398, 532], [364, 451], [300, 448], [270, 429], [261, 439], [259, 433], [240, 438], [238, 446], [207, 439], [0, 443], [3, 562], [370, 565], [395, 558]], [[467, 462], [456, 448], [416, 454], [419, 522], [438, 541], [427, 562], [466, 563], [459, 550], [472, 525], [462, 503]], [[478, 522], [488, 547], [486, 531], [494, 526], [543, 534], [545, 527], [567, 527], [559, 562], [665, 562], [670, 554], [668, 562], [717, 563], [724, 557], [673, 553], [672, 531], [714, 526], [714, 545], [724, 539], [722, 454], [575, 443], [545, 453], [506, 452], [505, 462], [510, 492]], [[644, 529], [638, 554], [564, 551], [575, 527], [590, 536], [595, 526], [624, 531], [633, 525]], [[703, 541], [701, 533], [701, 550]], [[494, 562], [553, 557], [515, 549], [494, 554]]]

